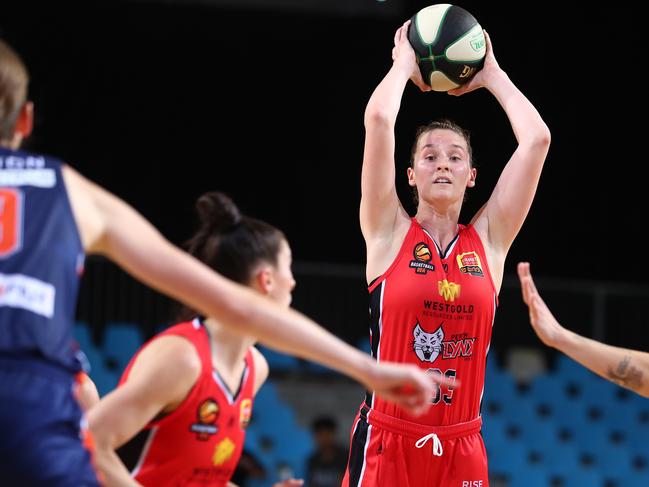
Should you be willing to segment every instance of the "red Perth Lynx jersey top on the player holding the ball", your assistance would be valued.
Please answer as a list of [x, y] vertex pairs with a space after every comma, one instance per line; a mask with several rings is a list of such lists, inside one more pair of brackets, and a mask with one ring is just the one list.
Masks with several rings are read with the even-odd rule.
[[419, 417], [371, 391], [366, 404], [427, 425], [476, 419], [498, 297], [475, 229], [458, 226], [453, 241], [440, 249], [412, 218], [397, 257], [370, 284], [369, 293], [372, 355], [379, 361], [416, 364], [459, 380], [461, 387], [439, 388], [433, 406]]

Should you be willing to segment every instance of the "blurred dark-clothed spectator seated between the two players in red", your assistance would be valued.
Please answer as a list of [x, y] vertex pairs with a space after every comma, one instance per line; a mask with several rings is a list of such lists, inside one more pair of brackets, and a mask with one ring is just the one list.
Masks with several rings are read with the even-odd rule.
[[316, 450], [307, 460], [306, 487], [340, 487], [349, 451], [338, 442], [337, 429], [330, 416], [313, 421], [311, 431]]

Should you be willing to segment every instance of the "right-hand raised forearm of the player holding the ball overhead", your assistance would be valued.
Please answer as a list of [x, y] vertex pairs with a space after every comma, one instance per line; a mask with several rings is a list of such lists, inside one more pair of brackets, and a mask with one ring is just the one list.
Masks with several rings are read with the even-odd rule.
[[549, 145], [550, 131], [527, 97], [502, 70], [494, 72], [487, 85], [503, 107], [519, 144]]

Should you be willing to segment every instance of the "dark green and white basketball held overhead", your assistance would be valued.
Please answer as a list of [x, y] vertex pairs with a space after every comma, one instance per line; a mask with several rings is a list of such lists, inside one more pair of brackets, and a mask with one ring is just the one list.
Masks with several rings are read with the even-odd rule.
[[422, 8], [411, 18], [408, 40], [424, 83], [434, 91], [462, 86], [484, 63], [482, 27], [457, 5], [439, 3]]

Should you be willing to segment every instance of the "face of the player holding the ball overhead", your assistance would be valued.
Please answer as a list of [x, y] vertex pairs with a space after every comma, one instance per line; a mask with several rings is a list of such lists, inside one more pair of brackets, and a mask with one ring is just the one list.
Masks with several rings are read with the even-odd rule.
[[475, 184], [464, 137], [447, 129], [422, 134], [408, 183], [417, 187], [420, 201], [461, 203], [466, 188]]

